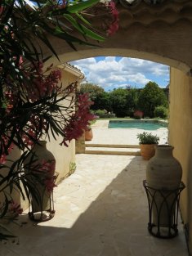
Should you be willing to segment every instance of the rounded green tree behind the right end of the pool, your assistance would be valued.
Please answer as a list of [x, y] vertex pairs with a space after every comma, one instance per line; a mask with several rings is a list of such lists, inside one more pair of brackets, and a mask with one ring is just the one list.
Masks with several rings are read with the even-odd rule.
[[167, 105], [167, 97], [157, 83], [149, 82], [141, 90], [138, 99], [138, 108], [144, 112], [145, 116], [153, 118], [155, 107]]

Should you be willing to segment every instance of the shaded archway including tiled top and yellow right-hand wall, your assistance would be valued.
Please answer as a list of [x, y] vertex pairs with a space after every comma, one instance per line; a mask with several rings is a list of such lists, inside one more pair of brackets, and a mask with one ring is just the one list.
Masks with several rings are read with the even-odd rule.
[[[128, 1], [119, 0], [120, 27], [99, 47], [77, 46], [77, 52], [57, 38], [50, 38], [61, 62], [90, 56], [129, 56], [170, 65], [170, 144], [183, 168], [187, 188], [181, 196], [181, 213], [189, 234], [192, 252], [192, 2], [190, 0]], [[129, 4], [132, 2], [132, 4]], [[137, 5], [134, 5], [134, 2]], [[149, 2], [152, 4], [149, 4]], [[157, 2], [157, 5], [153, 4]], [[123, 3], [123, 5], [121, 4]], [[125, 7], [126, 5], [126, 7]], [[101, 16], [100, 20], [106, 16]], [[102, 22], [92, 17], [100, 31]], [[101, 29], [102, 31], [102, 29]], [[94, 42], [95, 43], [95, 42]], [[50, 52], [45, 50], [45, 55]], [[56, 58], [47, 64], [58, 65]]]

